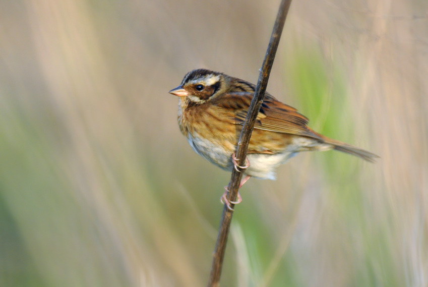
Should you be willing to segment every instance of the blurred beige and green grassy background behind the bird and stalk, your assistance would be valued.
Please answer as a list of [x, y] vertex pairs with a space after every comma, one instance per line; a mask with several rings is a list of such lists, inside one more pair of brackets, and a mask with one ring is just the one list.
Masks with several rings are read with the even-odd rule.
[[[257, 82], [279, 0], [0, 0], [0, 286], [204, 286], [230, 174], [168, 91]], [[224, 286], [428, 286], [428, 2], [293, 1], [268, 91], [326, 136], [241, 190]]]

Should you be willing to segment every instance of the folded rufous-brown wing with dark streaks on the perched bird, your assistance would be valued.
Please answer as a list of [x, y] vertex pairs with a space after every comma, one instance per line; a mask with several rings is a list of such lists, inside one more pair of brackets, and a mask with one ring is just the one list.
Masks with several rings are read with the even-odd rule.
[[[219, 107], [219, 110], [232, 109], [234, 111], [233, 116], [232, 113], [224, 112], [224, 120], [242, 125], [247, 116], [252, 97], [253, 93], [249, 92], [225, 93], [213, 99], [212, 103]], [[308, 118], [297, 112], [295, 108], [266, 93], [254, 128], [322, 140], [319, 135], [307, 127], [308, 122]]]

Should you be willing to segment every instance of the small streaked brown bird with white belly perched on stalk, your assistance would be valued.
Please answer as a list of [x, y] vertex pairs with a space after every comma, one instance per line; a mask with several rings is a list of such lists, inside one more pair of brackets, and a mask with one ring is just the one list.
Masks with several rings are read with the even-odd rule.
[[[180, 97], [178, 125], [198, 154], [223, 169], [236, 168], [234, 152], [254, 89], [247, 81], [198, 69], [169, 91]], [[367, 161], [378, 157], [317, 133], [308, 122], [295, 108], [266, 92], [248, 146], [250, 164], [242, 170], [247, 177], [241, 185], [250, 177], [274, 180], [276, 168], [300, 151], [335, 149]], [[230, 208], [225, 195], [222, 199]]]

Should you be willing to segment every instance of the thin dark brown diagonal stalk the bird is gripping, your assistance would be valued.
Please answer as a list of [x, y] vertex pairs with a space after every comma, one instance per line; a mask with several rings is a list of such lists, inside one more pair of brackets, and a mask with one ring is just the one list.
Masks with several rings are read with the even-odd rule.
[[[257, 114], [259, 113], [260, 106], [262, 105], [263, 98], [265, 96], [269, 75], [272, 69], [273, 61], [275, 59], [276, 50], [278, 48], [279, 39], [281, 38], [282, 28], [284, 27], [285, 19], [287, 17], [288, 9], [290, 8], [290, 4], [291, 0], [282, 0], [278, 9], [278, 13], [276, 15], [271, 39], [269, 41], [262, 69], [260, 70], [259, 80], [257, 82], [256, 90], [254, 92], [253, 99], [251, 100], [251, 104], [248, 109], [247, 118], [243, 123], [242, 131], [239, 136], [239, 141], [235, 152], [236, 158], [238, 158], [238, 165], [240, 166], [245, 165], [248, 144], [250, 142], [250, 137], [253, 132]], [[227, 199], [230, 202], [236, 201], [241, 178], [242, 172], [233, 169], [228, 187], [229, 193]], [[233, 206], [234, 204], [231, 204], [232, 208]], [[217, 243], [213, 255], [213, 262], [208, 287], [220, 286], [220, 275], [223, 265], [224, 253], [226, 250], [227, 238], [230, 230], [230, 223], [232, 221], [232, 214], [233, 210], [228, 209], [227, 206], [224, 205], [223, 215], [218, 231]]]

